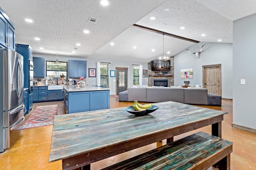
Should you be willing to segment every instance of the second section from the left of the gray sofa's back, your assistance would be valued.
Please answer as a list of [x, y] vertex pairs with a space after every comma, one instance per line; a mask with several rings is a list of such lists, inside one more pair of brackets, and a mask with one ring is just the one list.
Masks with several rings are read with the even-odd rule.
[[128, 101], [134, 102], [146, 102], [147, 101], [147, 88], [128, 88]]

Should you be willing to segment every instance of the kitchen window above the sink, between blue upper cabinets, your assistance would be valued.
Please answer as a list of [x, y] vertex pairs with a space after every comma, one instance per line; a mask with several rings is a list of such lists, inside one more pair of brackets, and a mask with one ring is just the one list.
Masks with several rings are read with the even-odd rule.
[[46, 61], [46, 76], [50, 78], [50, 80], [60, 80], [60, 75], [64, 74], [64, 79], [67, 78], [67, 68], [68, 62], [60, 61], [61, 64], [54, 64], [55, 61]]

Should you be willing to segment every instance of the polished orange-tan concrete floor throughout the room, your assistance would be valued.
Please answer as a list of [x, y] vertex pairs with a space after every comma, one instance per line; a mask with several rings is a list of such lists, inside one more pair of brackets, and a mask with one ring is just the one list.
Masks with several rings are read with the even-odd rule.
[[[25, 115], [26, 119], [30, 116], [36, 106], [58, 104], [58, 115], [65, 114], [63, 102], [43, 102], [34, 103], [29, 114]], [[231, 170], [256, 170], [256, 134], [240, 129], [235, 129], [232, 124], [232, 101], [222, 100], [222, 106], [202, 106], [211, 109], [227, 111], [222, 121], [222, 138], [232, 141], [233, 152], [231, 154]], [[118, 102], [118, 98], [110, 98], [110, 108], [125, 107], [132, 105], [131, 102]], [[242, 113], [241, 113], [242, 114]], [[36, 127], [24, 130], [14, 130], [11, 133], [11, 148], [0, 153], [0, 169], [1, 170], [61, 170], [61, 161], [48, 162], [52, 125], [44, 127]], [[207, 126], [197, 129], [190, 133], [174, 137], [174, 140], [190, 135], [197, 131], [211, 133], [211, 127]], [[15, 142], [14, 142], [15, 141]], [[153, 143], [145, 147], [131, 150], [117, 156], [95, 162], [91, 165], [91, 169], [98, 170], [109, 166], [128, 157], [146, 152], [155, 147], [165, 144], [166, 140]], [[214, 169], [214, 168], [210, 168]]]

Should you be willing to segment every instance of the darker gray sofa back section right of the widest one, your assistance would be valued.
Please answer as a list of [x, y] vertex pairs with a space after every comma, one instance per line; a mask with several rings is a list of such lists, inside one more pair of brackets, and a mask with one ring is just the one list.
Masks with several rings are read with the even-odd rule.
[[184, 88], [184, 103], [207, 105], [208, 90], [206, 88]]

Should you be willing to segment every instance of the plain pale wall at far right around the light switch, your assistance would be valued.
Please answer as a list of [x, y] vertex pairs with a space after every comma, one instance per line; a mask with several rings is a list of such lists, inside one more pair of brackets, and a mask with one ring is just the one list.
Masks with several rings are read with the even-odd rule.
[[255, 21], [253, 14], [233, 22], [233, 124], [252, 129], [256, 129]]

